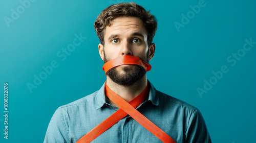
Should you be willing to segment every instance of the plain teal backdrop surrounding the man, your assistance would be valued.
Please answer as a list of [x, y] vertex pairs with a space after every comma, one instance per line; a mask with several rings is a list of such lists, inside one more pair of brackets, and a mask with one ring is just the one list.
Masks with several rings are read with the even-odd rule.
[[[22, 0], [23, 2], [24, 0]], [[14, 22], [19, 1], [0, 1], [0, 142], [42, 142], [50, 119], [61, 105], [98, 90], [105, 81], [103, 61], [93, 23], [114, 3], [128, 1], [35, 1]], [[134, 1], [157, 17], [158, 30], [152, 70], [147, 77], [164, 92], [202, 112], [212, 142], [256, 142], [256, 44], [232, 66], [227, 58], [256, 41], [256, 1], [205, 1], [190, 21], [181, 14], [199, 1]], [[22, 10], [22, 9], [20, 9]], [[65, 60], [57, 57], [75, 34], [87, 37]], [[247, 45], [248, 46], [248, 45]], [[234, 58], [232, 58], [234, 59]], [[34, 75], [53, 68], [32, 92]], [[229, 69], [212, 88], [199, 95], [212, 71]], [[4, 138], [4, 83], [8, 83], [8, 139]]]

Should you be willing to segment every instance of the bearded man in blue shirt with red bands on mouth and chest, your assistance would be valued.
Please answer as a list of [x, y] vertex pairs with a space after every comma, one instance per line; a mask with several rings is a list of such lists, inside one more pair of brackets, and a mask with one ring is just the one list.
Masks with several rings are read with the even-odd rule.
[[106, 82], [59, 107], [44, 142], [211, 142], [196, 107], [156, 90], [146, 78], [157, 30], [150, 12], [135, 3], [112, 5], [94, 27]]

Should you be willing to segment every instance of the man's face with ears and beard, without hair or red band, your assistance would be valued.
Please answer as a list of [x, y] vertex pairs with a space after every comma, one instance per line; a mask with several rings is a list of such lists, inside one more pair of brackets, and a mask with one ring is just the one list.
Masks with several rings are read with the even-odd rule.
[[[104, 46], [99, 44], [100, 57], [104, 62], [123, 55], [139, 57], [148, 63], [155, 52], [155, 44], [148, 48], [147, 32], [141, 19], [137, 17], [119, 17], [105, 28]], [[120, 65], [110, 69], [106, 75], [120, 85], [131, 85], [145, 75], [139, 65]]]

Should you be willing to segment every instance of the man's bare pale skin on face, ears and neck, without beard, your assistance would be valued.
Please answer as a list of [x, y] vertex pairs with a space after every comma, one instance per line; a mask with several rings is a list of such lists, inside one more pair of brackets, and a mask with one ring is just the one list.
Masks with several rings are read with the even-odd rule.
[[[104, 56], [108, 60], [123, 55], [145, 57], [148, 50], [148, 58], [151, 60], [155, 54], [155, 43], [152, 43], [148, 48], [147, 31], [143, 26], [142, 20], [138, 17], [118, 17], [112, 20], [111, 26], [105, 28], [104, 42], [104, 46], [102, 44], [98, 45], [99, 55], [102, 60]], [[103, 49], [105, 50], [105, 55]], [[132, 70], [135, 69], [135, 65], [120, 65], [116, 67], [119, 74], [125, 74], [124, 66], [130, 66]], [[146, 88], [147, 78], [145, 74], [135, 84], [122, 86], [113, 82], [109, 76], [106, 76], [106, 84], [122, 99], [130, 102]], [[110, 103], [118, 107], [112, 101]]]

